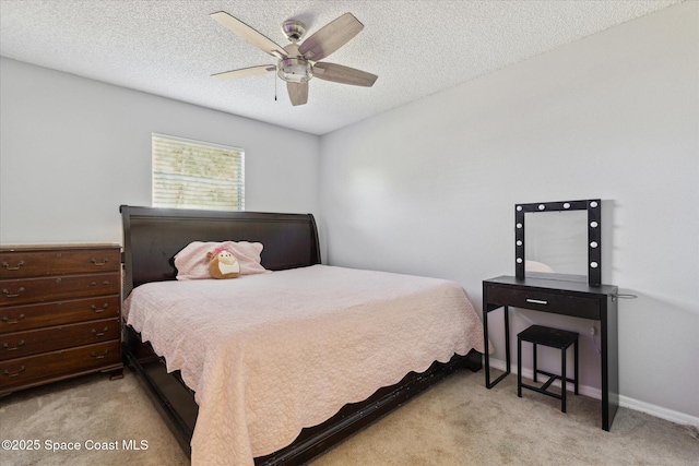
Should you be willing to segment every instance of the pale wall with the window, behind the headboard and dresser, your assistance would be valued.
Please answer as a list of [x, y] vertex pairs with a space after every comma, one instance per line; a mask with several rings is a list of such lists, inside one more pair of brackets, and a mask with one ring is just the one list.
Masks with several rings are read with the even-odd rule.
[[0, 103], [0, 243], [120, 243], [152, 132], [244, 148], [247, 211], [317, 213], [316, 135], [5, 58]]

